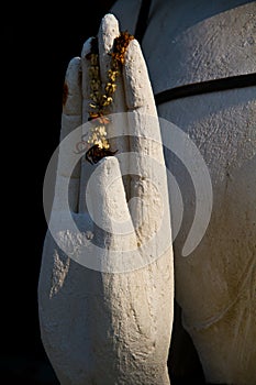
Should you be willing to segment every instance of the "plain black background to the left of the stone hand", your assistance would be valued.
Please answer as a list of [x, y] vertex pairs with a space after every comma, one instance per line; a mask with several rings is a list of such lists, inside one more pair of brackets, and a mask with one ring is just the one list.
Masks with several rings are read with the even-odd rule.
[[0, 383], [58, 384], [38, 328], [37, 282], [46, 231], [43, 183], [58, 144], [68, 62], [114, 1], [4, 3], [0, 14]]

